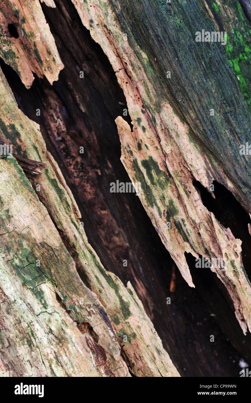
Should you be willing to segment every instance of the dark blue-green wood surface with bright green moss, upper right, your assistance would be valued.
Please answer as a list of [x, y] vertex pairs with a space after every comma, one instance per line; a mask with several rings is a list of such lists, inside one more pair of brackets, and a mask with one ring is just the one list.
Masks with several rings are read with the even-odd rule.
[[[152, 102], [143, 102], [153, 123], [162, 102], [169, 102], [189, 123], [199, 152], [217, 163], [213, 164], [217, 180], [222, 181], [221, 165], [238, 190], [236, 197], [250, 209], [251, 160], [239, 154], [239, 145], [251, 141], [251, 29], [239, 2], [226, 0], [222, 6], [211, 0], [207, 4], [202, 0], [111, 3], [156, 91], [156, 95], [149, 93], [144, 84]], [[202, 29], [226, 31], [226, 46], [195, 42], [196, 32]], [[166, 78], [166, 71], [171, 78]]]

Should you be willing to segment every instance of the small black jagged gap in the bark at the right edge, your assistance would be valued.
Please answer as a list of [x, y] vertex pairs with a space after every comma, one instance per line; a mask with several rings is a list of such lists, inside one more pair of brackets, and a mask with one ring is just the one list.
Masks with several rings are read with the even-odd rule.
[[204, 206], [214, 213], [217, 220], [230, 228], [235, 238], [241, 239], [242, 260], [245, 271], [251, 278], [251, 235], [248, 224], [251, 223], [249, 214], [236, 200], [234, 195], [220, 183], [214, 181], [214, 197], [198, 181], [193, 181], [194, 187], [201, 195]]

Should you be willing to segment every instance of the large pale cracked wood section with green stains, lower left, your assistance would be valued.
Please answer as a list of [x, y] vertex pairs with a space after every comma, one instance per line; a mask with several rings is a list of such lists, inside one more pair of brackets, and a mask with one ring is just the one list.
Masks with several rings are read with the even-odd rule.
[[[125, 288], [106, 272], [88, 244], [70, 189], [38, 125], [19, 110], [2, 72], [0, 93], [3, 135], [20, 154], [47, 166], [30, 180], [35, 193], [15, 159], [1, 160], [1, 305], [13, 308], [9, 319], [2, 312], [2, 369], [19, 376], [178, 376], [131, 284]], [[42, 349], [44, 343], [48, 349]], [[16, 346], [22, 347], [21, 355]]]

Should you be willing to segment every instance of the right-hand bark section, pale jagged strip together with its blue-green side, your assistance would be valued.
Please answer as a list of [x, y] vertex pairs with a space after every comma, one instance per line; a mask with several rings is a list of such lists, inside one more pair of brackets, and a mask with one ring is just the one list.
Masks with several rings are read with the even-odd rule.
[[[218, 268], [212, 268], [212, 271], [216, 272], [228, 289], [234, 302], [236, 318], [246, 333], [247, 326], [251, 330], [251, 285], [241, 260], [241, 241], [234, 239], [231, 231], [225, 229], [214, 214], [203, 206], [193, 180], [200, 181], [207, 189], [217, 180], [230, 189], [250, 212], [251, 183], [248, 168], [251, 162], [239, 154], [242, 127], [250, 127], [249, 95], [245, 91], [243, 97], [241, 93], [244, 92], [243, 81], [248, 80], [247, 68], [250, 68], [250, 62], [247, 57], [245, 64], [240, 66], [242, 75], [239, 76], [243, 77], [240, 86], [239, 71], [236, 70], [236, 77], [234, 70], [228, 67], [227, 60], [233, 57], [237, 49], [240, 52], [244, 50], [245, 42], [240, 42], [238, 38], [242, 35], [245, 41], [248, 26], [243, 26], [241, 19], [235, 18], [239, 9], [231, 1], [223, 6], [224, 13], [220, 12], [220, 5], [205, 5], [201, 2], [192, 10], [187, 2], [172, 4], [172, 7], [154, 1], [142, 4], [133, 1], [129, 4], [113, 0], [85, 3], [73, 0], [73, 3], [83, 24], [107, 54], [127, 98], [133, 132], [121, 117], [116, 119], [122, 144], [121, 159], [130, 179], [141, 181], [143, 194], [139, 197], [149, 217], [158, 228], [164, 245], [183, 277], [192, 287], [185, 251], [195, 257], [203, 255], [227, 260], [225, 272]], [[201, 15], [199, 7], [205, 10], [205, 14]], [[217, 22], [214, 20], [216, 12]], [[151, 23], [158, 27], [158, 34], [147, 29], [148, 36], [140, 31], [141, 24], [147, 26], [149, 15]], [[181, 23], [184, 18], [188, 18], [187, 15], [195, 19], [189, 21], [189, 24]], [[223, 65], [226, 70], [222, 73], [224, 88], [216, 85], [217, 80], [222, 81], [222, 75], [219, 79], [214, 70], [210, 72], [209, 79], [207, 75], [209, 84], [203, 82], [198, 87], [197, 77], [203, 71], [194, 50], [190, 52], [192, 44], [193, 49], [196, 44], [197, 15], [202, 18], [201, 23], [205, 28], [224, 25], [223, 30], [227, 31], [226, 53], [221, 44], [208, 45], [211, 46], [209, 51], [215, 65]], [[235, 35], [229, 32], [229, 27], [236, 29]], [[187, 52], [183, 52], [184, 47]], [[203, 58], [205, 48], [199, 43], [196, 52]], [[245, 48], [245, 52], [249, 55], [250, 50]], [[197, 73], [192, 75], [191, 80], [191, 71], [194, 70]], [[171, 75], [166, 74], [166, 71]], [[184, 88], [187, 92], [184, 92]], [[201, 97], [196, 100], [198, 88]], [[234, 89], [231, 98], [224, 94], [228, 88]], [[238, 102], [240, 100], [241, 107], [237, 107], [236, 99]], [[203, 106], [197, 109], [201, 100]], [[176, 105], [178, 115], [172, 108], [175, 106], [177, 109]], [[212, 109], [215, 114], [210, 118]], [[226, 113], [230, 113], [231, 120], [226, 120]], [[190, 127], [183, 122], [182, 115], [186, 116]], [[230, 162], [229, 155], [232, 156]], [[168, 223], [171, 224], [170, 229]]]

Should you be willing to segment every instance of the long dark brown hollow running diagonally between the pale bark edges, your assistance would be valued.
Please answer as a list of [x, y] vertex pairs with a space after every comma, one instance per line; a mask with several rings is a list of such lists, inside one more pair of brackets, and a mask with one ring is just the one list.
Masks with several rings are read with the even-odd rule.
[[[215, 283], [210, 286], [204, 273], [192, 267], [196, 289], [187, 285], [177, 269], [174, 283], [175, 264], [138, 197], [110, 193], [110, 182], [130, 181], [120, 161], [114, 123], [118, 115], [126, 118], [122, 113], [126, 100], [108, 58], [83, 27], [73, 4], [63, 0], [56, 6], [52, 9], [42, 4], [65, 66], [59, 80], [50, 86], [46, 79], [36, 77], [27, 90], [16, 73], [1, 63], [19, 108], [39, 123], [102, 264], [124, 285], [131, 281], [180, 374], [239, 376], [239, 359], [251, 362], [251, 343], [248, 345], [248, 337], [244, 337], [229, 308], [225, 288], [222, 291]], [[84, 79], [79, 79], [80, 70], [85, 73]], [[36, 116], [37, 108], [41, 116]], [[127, 116], [128, 123], [130, 120]], [[56, 141], [58, 137], [62, 139]], [[85, 153], [80, 157], [77, 150], [81, 145]], [[125, 267], [123, 260], [127, 260]], [[213, 281], [215, 275], [208, 272], [207, 277]], [[175, 292], [170, 292], [171, 278]], [[171, 297], [170, 304], [167, 297]], [[210, 316], [214, 314], [212, 304], [219, 315]], [[222, 316], [224, 331], [220, 328]], [[210, 334], [218, 335], [215, 343], [210, 343]]]

